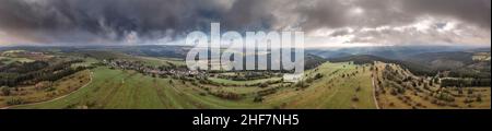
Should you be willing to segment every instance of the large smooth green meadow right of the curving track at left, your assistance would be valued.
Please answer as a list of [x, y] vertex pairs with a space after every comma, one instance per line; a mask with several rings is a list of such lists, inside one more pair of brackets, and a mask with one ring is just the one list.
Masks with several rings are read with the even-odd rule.
[[201, 96], [178, 80], [155, 79], [133, 71], [94, 69], [94, 82], [68, 97], [16, 108], [261, 108], [261, 105]]

